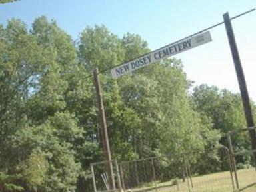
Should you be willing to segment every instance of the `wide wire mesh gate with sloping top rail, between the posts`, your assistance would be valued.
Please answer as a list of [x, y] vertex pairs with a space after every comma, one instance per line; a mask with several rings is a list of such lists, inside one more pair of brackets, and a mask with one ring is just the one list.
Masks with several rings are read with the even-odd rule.
[[220, 148], [126, 161], [121, 177], [126, 191], [233, 191], [229, 160]]

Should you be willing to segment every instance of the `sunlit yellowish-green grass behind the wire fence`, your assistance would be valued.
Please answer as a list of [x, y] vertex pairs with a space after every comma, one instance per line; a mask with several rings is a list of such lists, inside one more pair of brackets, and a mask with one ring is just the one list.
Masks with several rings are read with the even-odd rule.
[[[191, 180], [185, 183], [178, 180], [177, 185], [173, 185], [173, 181], [157, 182], [157, 190], [155, 189], [155, 183], [147, 183], [132, 191], [136, 192], [173, 192], [173, 191], [190, 191], [191, 192], [231, 192], [231, 191], [243, 191], [243, 192], [255, 192], [256, 191], [256, 171], [255, 168], [241, 169], [237, 171], [237, 177], [239, 180], [239, 189], [233, 189], [233, 183], [235, 185], [235, 179], [231, 179], [229, 171], [212, 173], [209, 175], [201, 175], [192, 177]], [[189, 184], [188, 184], [189, 183]], [[193, 187], [192, 187], [193, 185]]]

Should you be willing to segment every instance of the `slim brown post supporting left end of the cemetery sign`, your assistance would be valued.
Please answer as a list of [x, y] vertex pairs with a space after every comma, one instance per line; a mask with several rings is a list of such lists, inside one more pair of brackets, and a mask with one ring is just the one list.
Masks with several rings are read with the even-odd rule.
[[99, 82], [98, 73], [99, 73], [98, 68], [95, 68], [95, 70], [93, 71], [93, 77], [95, 81], [96, 95], [97, 95], [97, 101], [98, 101], [99, 123], [101, 127], [103, 151], [105, 155], [105, 160], [107, 161], [107, 174], [109, 177], [110, 189], [114, 190], [115, 179], [113, 175], [113, 166], [112, 166], [111, 153], [109, 148], [109, 136], [107, 135], [107, 123], [106, 123], [105, 110], [104, 110], [103, 98], [101, 93], [101, 83]]

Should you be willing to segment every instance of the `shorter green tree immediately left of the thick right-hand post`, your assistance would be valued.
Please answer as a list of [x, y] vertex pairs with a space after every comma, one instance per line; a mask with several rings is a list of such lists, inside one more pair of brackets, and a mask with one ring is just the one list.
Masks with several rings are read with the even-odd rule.
[[[223, 136], [221, 144], [227, 145], [226, 133], [236, 131], [246, 126], [241, 96], [226, 89], [200, 85], [193, 91], [195, 107], [203, 117], [208, 117], [213, 123], [213, 129], [219, 130]], [[248, 133], [236, 133], [231, 137], [235, 151], [249, 149]], [[238, 163], [250, 163], [251, 157], [245, 155], [237, 159]]]

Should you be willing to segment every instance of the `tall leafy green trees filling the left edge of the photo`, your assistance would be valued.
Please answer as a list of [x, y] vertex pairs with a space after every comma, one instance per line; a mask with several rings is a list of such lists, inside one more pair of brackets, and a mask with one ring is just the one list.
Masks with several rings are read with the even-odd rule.
[[[80, 173], [75, 150], [84, 142], [84, 130], [66, 111], [67, 93], [76, 82], [68, 80], [78, 66], [73, 42], [45, 17], [35, 20], [31, 33], [13, 19], [0, 27], [0, 35], [0, 171], [13, 178], [3, 189], [75, 191]], [[38, 158], [45, 159], [41, 171], [35, 171]]]

